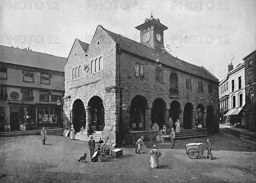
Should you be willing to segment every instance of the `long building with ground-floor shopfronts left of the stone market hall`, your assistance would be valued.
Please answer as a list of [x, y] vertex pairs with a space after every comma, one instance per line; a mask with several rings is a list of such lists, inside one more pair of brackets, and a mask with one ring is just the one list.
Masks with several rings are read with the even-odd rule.
[[[66, 58], [0, 46], [0, 130], [63, 127]], [[63, 119], [63, 118], [62, 118]]]

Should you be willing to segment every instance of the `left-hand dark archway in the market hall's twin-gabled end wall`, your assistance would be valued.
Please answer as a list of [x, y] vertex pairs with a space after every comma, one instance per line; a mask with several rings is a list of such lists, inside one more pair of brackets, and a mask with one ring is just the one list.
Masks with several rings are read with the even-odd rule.
[[82, 126], [85, 127], [86, 123], [84, 103], [80, 99], [74, 101], [71, 114], [74, 130], [75, 132], [78, 132]]

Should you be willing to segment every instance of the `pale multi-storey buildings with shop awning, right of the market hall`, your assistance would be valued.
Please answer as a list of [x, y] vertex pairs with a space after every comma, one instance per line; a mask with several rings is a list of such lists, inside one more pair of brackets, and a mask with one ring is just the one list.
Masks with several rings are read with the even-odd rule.
[[243, 113], [245, 105], [244, 63], [240, 63], [235, 69], [233, 69], [232, 63], [228, 66], [227, 77], [221, 81], [219, 90], [220, 109], [223, 109], [220, 112], [225, 122], [230, 126], [245, 126]]

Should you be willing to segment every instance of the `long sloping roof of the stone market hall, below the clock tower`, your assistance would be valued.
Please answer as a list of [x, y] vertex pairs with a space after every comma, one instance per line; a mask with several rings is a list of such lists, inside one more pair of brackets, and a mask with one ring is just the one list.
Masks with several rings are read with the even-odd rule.
[[[99, 25], [100, 26], [100, 25]], [[120, 34], [116, 34], [112, 31], [108, 31], [107, 29], [100, 26], [105, 32], [113, 39], [114, 42], [119, 44], [119, 48], [125, 51], [129, 51], [133, 54], [137, 54], [141, 57], [145, 57], [147, 59], [150, 59], [152, 61], [156, 61], [156, 59], [160, 58], [159, 64], [164, 64], [167, 66], [171, 66], [175, 69], [179, 69], [181, 71], [186, 71], [191, 74], [194, 74], [199, 77], [204, 77], [209, 80], [218, 82], [218, 78], [215, 77], [213, 74], [211, 74], [207, 69], [205, 69], [203, 66], [196, 66], [194, 64], [188, 63], [184, 60], [180, 60], [176, 57], [173, 57], [169, 52], [164, 51], [157, 51], [152, 48], [149, 48], [148, 46], [145, 46], [141, 43], [138, 43], [134, 40], [131, 40], [127, 37], [123, 37]], [[164, 46], [163, 46], [164, 47]], [[152, 55], [154, 54], [154, 55]], [[158, 54], [159, 56], [156, 56]]]

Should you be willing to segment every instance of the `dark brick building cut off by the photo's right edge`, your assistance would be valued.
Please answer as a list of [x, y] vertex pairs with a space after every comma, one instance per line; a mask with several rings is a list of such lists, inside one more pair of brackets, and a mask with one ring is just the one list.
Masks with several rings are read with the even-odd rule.
[[243, 58], [244, 74], [245, 74], [245, 94], [246, 104], [244, 107], [245, 113], [245, 128], [256, 130], [256, 50]]

